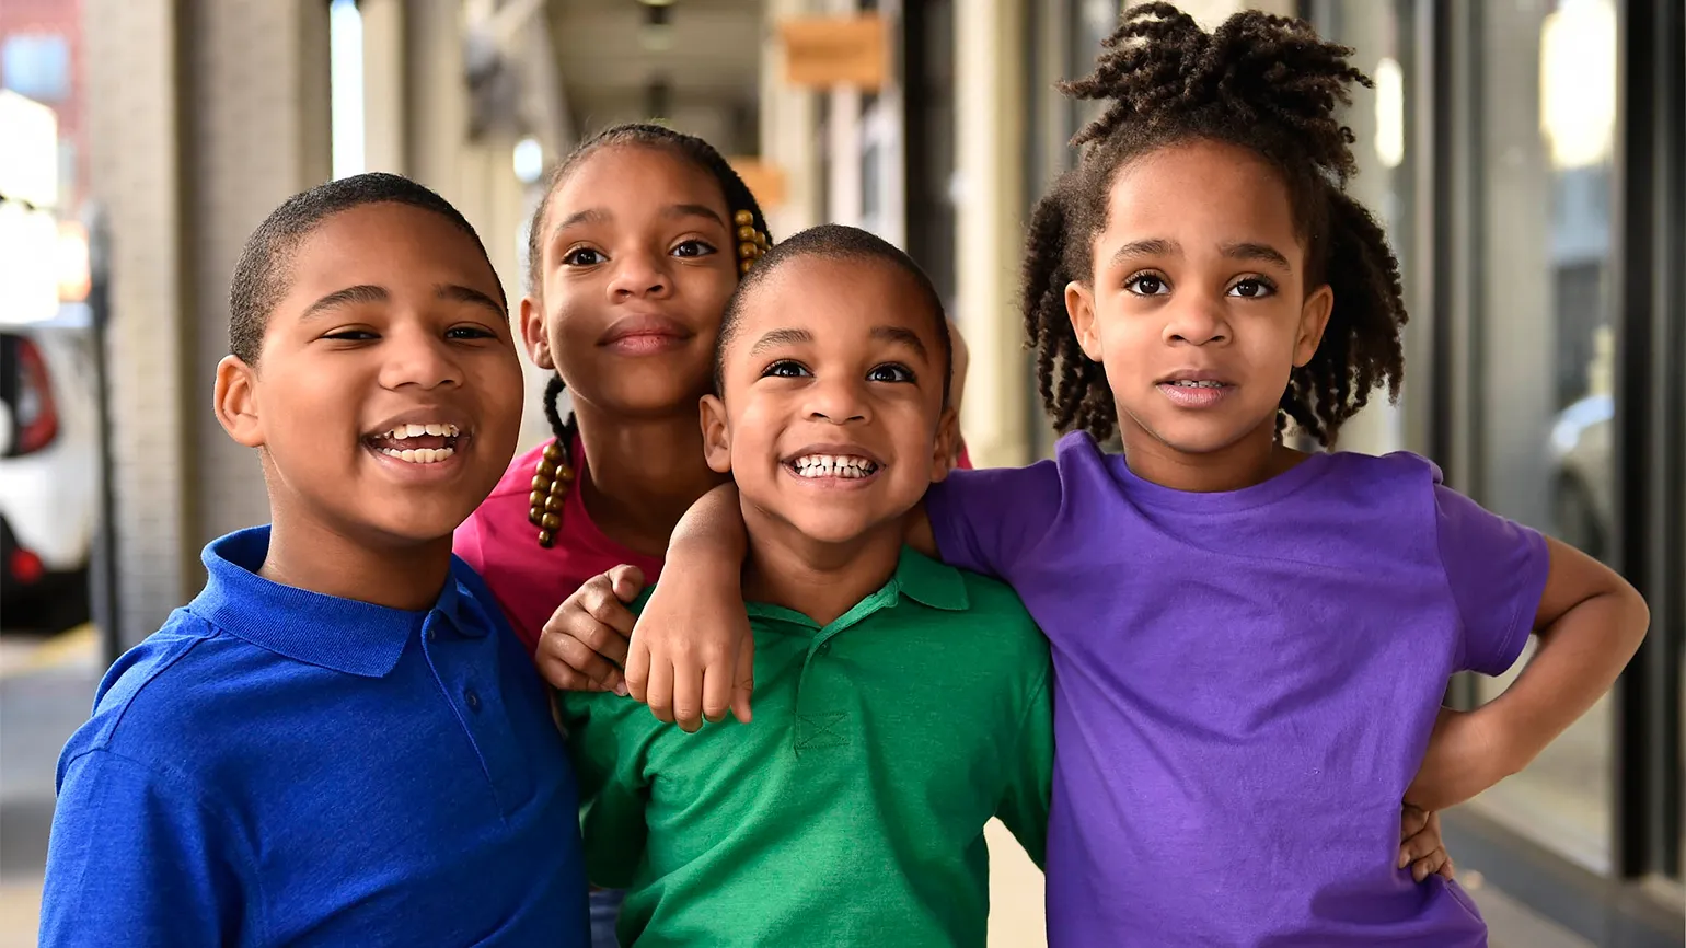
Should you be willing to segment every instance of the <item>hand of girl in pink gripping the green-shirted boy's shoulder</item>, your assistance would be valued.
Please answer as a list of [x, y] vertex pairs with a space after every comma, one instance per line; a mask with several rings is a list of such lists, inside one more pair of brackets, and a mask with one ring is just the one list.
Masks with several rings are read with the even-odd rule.
[[644, 574], [637, 567], [615, 567], [585, 580], [545, 622], [533, 656], [540, 675], [563, 692], [626, 695], [620, 666], [632, 634], [627, 604], [641, 589]]

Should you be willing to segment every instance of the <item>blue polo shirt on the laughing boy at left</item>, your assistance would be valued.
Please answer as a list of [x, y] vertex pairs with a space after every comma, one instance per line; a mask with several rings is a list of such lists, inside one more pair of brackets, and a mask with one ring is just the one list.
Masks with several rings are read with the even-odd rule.
[[268, 543], [211, 543], [101, 681], [40, 943], [585, 946], [573, 773], [481, 579], [403, 612], [261, 579]]

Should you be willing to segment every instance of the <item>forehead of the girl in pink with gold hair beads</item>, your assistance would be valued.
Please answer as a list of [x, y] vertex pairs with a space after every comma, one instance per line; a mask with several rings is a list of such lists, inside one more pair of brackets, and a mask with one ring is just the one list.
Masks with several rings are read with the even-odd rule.
[[560, 182], [550, 216], [587, 207], [615, 219], [646, 216], [673, 204], [703, 204], [730, 219], [720, 182], [696, 162], [664, 145], [605, 145], [592, 152]]

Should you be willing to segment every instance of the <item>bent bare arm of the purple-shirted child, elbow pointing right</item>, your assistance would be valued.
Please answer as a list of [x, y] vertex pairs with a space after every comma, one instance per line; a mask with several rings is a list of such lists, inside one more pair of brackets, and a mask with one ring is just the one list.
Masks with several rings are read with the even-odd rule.
[[1546, 552], [1533, 661], [1482, 708], [1442, 708], [1408, 801], [1445, 810], [1521, 771], [1610, 690], [1639, 649], [1651, 622], [1639, 592], [1573, 547], [1548, 538]]

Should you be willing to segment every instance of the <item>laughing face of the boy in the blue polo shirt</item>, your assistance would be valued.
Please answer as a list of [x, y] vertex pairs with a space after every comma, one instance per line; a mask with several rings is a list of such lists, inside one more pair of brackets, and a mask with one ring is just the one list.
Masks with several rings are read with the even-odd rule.
[[472, 236], [406, 204], [307, 233], [256, 366], [217, 368], [217, 417], [263, 449], [275, 518], [369, 548], [448, 538], [514, 454], [521, 364]]

